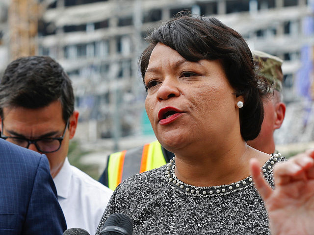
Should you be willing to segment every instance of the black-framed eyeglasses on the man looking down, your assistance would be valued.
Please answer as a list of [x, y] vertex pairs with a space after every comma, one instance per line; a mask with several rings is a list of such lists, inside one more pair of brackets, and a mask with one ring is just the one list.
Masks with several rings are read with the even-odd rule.
[[[3, 121], [1, 122], [2, 125], [2, 132], [3, 132]], [[42, 138], [42, 139], [36, 139], [36, 140], [29, 140], [23, 137], [10, 137], [10, 136], [4, 136], [1, 132], [1, 138], [3, 140], [9, 141], [11, 143], [17, 144], [21, 147], [28, 148], [29, 144], [33, 143], [35, 144], [36, 148], [39, 152], [42, 153], [53, 153], [60, 149], [61, 142], [63, 141], [65, 131], [67, 130], [69, 126], [69, 119], [67, 121], [67, 124], [65, 125], [63, 134], [59, 138]]]

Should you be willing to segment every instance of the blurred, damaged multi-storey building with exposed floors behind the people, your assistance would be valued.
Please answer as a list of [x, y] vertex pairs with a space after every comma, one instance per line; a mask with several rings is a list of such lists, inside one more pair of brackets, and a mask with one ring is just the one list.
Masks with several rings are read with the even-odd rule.
[[[80, 126], [84, 127], [78, 133], [81, 138], [97, 140], [152, 133], [144, 111], [146, 94], [138, 58], [147, 46], [145, 36], [182, 10], [217, 17], [241, 33], [251, 49], [282, 58], [287, 103], [313, 98], [312, 0], [38, 1], [39, 5], [43, 3], [38, 13], [36, 50], [56, 59], [71, 77]], [[0, 16], [0, 53], [5, 53], [1, 49], [5, 19]], [[0, 58], [0, 70], [5, 67], [3, 64], [6, 63]], [[294, 112], [310, 114], [311, 106], [312, 102], [306, 104], [306, 110], [298, 110], [304, 106], [296, 105], [291, 114], [287, 109], [291, 116], [287, 123], [290, 119], [296, 123], [294, 118], [299, 118], [298, 128], [305, 131], [302, 125], [311, 122], [311, 117], [304, 120]], [[300, 134], [297, 129], [287, 135], [289, 125], [285, 124], [282, 133], [278, 133], [278, 141], [297, 141], [287, 139]], [[313, 130], [306, 134], [308, 141], [313, 139]]]

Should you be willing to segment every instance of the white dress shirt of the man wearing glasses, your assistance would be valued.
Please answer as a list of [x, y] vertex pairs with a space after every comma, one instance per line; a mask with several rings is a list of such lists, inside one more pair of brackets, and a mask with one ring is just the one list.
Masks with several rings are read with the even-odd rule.
[[68, 158], [53, 181], [67, 228], [82, 228], [94, 235], [112, 190], [71, 165]]

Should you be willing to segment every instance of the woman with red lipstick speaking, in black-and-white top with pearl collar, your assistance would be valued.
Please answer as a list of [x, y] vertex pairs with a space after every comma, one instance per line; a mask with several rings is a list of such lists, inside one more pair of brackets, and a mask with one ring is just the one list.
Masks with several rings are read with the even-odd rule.
[[[140, 58], [146, 112], [157, 140], [175, 158], [120, 184], [97, 234], [117, 212], [131, 217], [134, 235], [270, 234], [261, 195], [266, 207], [285, 200], [269, 187], [273, 167], [285, 159], [246, 144], [260, 132], [269, 87], [244, 39], [215, 18], [182, 16], [147, 40]], [[300, 159], [289, 163], [300, 169], [278, 177], [313, 165], [310, 157]]]

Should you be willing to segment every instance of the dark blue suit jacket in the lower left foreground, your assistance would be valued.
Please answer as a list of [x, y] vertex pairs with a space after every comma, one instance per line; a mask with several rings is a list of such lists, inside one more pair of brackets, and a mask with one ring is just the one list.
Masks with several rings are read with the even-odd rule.
[[48, 159], [0, 139], [0, 235], [62, 235]]

